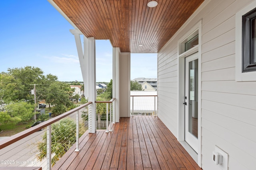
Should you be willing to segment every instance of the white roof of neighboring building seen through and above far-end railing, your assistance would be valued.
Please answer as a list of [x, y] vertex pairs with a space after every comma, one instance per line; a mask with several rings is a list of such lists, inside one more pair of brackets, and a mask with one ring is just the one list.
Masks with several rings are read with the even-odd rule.
[[157, 111], [157, 92], [131, 91], [130, 112], [131, 115], [155, 115]]

